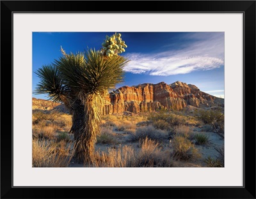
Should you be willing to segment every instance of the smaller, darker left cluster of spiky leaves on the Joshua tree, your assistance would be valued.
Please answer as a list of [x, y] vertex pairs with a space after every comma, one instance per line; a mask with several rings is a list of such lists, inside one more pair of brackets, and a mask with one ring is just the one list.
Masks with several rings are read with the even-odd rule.
[[65, 90], [68, 88], [66, 85], [63, 85], [60, 71], [50, 64], [42, 66], [35, 73], [40, 78], [40, 81], [34, 93], [47, 93], [52, 101], [61, 102], [61, 95], [65, 94]]

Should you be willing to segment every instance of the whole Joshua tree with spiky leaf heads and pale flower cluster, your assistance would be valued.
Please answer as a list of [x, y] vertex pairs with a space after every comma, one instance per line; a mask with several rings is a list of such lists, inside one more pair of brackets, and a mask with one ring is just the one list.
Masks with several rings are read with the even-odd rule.
[[35, 93], [47, 93], [50, 100], [70, 110], [74, 157], [81, 163], [92, 161], [104, 94], [123, 80], [129, 61], [118, 54], [126, 47], [120, 33], [107, 35], [101, 50], [66, 54], [61, 47], [62, 57], [35, 71], [40, 78]]

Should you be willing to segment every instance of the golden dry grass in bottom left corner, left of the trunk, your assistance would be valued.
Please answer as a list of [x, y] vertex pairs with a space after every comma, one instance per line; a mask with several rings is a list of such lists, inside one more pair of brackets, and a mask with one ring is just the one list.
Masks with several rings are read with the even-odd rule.
[[33, 167], [67, 167], [73, 156], [65, 142], [32, 141]]

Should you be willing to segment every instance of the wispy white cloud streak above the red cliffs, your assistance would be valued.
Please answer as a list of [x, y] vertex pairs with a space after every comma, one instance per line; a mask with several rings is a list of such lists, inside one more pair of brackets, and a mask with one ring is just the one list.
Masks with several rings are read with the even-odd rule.
[[[166, 46], [164, 48], [166, 49]], [[198, 41], [179, 50], [170, 49], [156, 54], [131, 53], [127, 54], [127, 57], [130, 63], [124, 70], [136, 74], [168, 76], [212, 70], [224, 64], [223, 35], [218, 34], [207, 39], [198, 38]]]

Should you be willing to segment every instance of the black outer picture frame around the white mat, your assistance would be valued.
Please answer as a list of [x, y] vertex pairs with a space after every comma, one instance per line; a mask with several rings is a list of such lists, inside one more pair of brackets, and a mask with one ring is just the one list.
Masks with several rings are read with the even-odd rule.
[[[141, 4], [138, 1], [113, 1], [118, 6], [106, 8], [104, 5], [108, 3], [109, 1], [1, 1], [1, 198], [255, 198], [255, 1], [141, 1]], [[244, 187], [13, 188], [13, 12], [243, 12]], [[234, 96], [236, 97], [239, 96]], [[10, 110], [12, 114], [8, 114]]]

